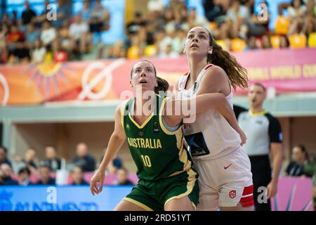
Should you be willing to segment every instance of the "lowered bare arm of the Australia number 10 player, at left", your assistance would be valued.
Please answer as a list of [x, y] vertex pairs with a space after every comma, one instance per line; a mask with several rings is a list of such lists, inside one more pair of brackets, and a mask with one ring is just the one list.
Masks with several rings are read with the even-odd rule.
[[[119, 148], [121, 148], [126, 139], [124, 129], [121, 124], [121, 107], [122, 106], [119, 105], [115, 110], [115, 125], [113, 134], [110, 138], [109, 145], [107, 146], [107, 150], [105, 151], [105, 155], [100, 167], [98, 168], [96, 174], [94, 174], [94, 176], [91, 178], [90, 190], [93, 195], [102, 191], [105, 169], [107, 168], [107, 165], [109, 165], [109, 163], [113, 160], [114, 156], [117, 154]], [[99, 187], [97, 186], [98, 182], [100, 183]]]

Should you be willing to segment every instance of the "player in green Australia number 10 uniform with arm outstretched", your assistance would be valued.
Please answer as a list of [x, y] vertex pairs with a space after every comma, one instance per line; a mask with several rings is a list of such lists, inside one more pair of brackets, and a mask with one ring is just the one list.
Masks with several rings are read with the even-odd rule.
[[[162, 79], [158, 83], [168, 84]], [[158, 86], [154, 65], [147, 60], [133, 66], [131, 86], [136, 97], [119, 105], [115, 112], [114, 132], [105, 157], [91, 179], [91, 193], [102, 191], [105, 168], [127, 139], [139, 180], [115, 210], [195, 210], [199, 200], [198, 175], [183, 146], [181, 128], [183, 117], [189, 115], [183, 110], [176, 115], [175, 106], [181, 108], [187, 104], [190, 108], [195, 101], [196, 113], [216, 108], [228, 120], [235, 118], [232, 108], [219, 93], [184, 100], [154, 94], [154, 89], [166, 91], [168, 87]], [[145, 94], [151, 97], [143, 98]]]

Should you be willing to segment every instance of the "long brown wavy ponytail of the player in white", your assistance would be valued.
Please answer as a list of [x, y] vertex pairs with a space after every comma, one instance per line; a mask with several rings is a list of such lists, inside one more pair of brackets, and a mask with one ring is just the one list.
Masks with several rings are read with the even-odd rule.
[[213, 47], [213, 53], [207, 55], [207, 63], [218, 65], [228, 75], [230, 84], [233, 89], [239, 86], [242, 89], [248, 87], [247, 70], [240, 65], [235, 56], [232, 56], [228, 51], [225, 51], [216, 41], [209, 30], [204, 28], [209, 33], [209, 46]]

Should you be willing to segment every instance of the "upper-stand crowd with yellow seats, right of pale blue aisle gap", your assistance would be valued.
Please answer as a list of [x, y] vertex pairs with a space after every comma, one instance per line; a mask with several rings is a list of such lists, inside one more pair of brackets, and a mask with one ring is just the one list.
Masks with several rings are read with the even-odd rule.
[[[173, 0], [164, 7], [159, 0], [148, 4], [147, 15], [136, 12], [126, 24], [127, 41], [118, 41], [107, 49], [108, 58], [142, 56], [176, 57], [183, 54], [190, 28], [209, 29], [214, 39], [227, 51], [316, 47], [315, 0], [294, 0], [279, 5], [275, 30], [270, 30], [267, 11], [256, 13], [254, 0], [208, 0], [205, 16], [185, 1]], [[285, 10], [284, 10], [285, 9]], [[287, 13], [287, 16], [285, 14]]]

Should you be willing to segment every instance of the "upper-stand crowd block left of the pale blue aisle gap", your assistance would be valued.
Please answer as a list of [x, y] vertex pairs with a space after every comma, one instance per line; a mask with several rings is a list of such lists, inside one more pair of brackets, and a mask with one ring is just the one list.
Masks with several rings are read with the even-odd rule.
[[110, 13], [96, 0], [91, 6], [84, 1], [84, 8], [72, 15], [65, 0], [57, 0], [56, 20], [50, 18], [49, 1], [45, 11], [36, 15], [25, 1], [25, 11], [20, 20], [13, 11], [4, 13], [0, 27], [0, 63], [42, 63], [80, 60], [92, 48], [93, 33], [108, 30]]

